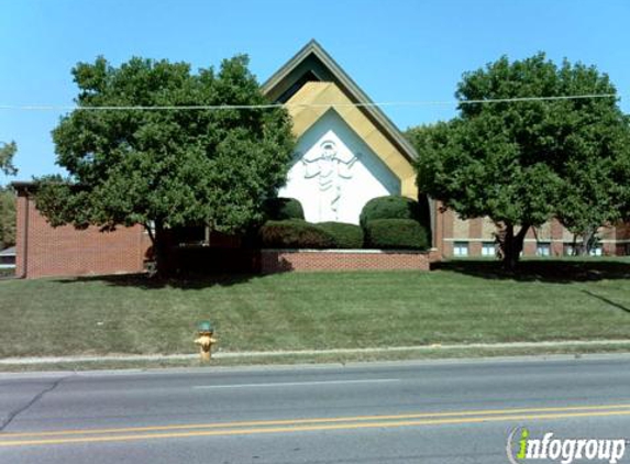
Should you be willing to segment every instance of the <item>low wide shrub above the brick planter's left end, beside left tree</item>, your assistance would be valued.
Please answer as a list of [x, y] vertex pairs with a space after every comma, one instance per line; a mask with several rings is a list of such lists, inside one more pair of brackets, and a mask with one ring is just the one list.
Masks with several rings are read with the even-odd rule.
[[334, 237], [322, 228], [299, 219], [267, 221], [258, 231], [266, 248], [333, 248]]

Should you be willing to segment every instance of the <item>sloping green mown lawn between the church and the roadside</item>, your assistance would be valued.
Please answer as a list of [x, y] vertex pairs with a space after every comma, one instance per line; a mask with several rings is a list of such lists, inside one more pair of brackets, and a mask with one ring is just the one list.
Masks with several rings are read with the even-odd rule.
[[628, 261], [493, 262], [431, 273], [144, 276], [0, 281], [0, 357], [192, 353], [211, 320], [223, 351], [627, 339]]

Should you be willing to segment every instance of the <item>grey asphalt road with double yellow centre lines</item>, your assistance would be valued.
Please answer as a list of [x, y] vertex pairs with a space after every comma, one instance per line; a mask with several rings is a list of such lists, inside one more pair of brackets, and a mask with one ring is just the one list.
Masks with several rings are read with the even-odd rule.
[[630, 439], [630, 357], [0, 375], [0, 463], [507, 463], [516, 428]]

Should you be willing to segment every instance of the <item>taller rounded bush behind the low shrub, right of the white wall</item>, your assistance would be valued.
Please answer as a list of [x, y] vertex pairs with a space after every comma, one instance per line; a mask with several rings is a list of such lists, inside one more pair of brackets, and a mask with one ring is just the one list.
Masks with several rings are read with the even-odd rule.
[[429, 225], [429, 203], [427, 197], [421, 201], [400, 196], [377, 197], [369, 200], [361, 211], [361, 227], [376, 219], [412, 219], [422, 225]]

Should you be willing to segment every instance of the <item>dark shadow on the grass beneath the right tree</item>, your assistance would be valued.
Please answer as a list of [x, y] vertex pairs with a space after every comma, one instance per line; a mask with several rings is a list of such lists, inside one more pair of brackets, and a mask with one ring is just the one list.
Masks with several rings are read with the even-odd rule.
[[486, 279], [571, 284], [630, 278], [630, 261], [610, 259], [524, 259], [515, 272], [498, 261], [453, 259], [434, 263], [432, 269], [449, 270]]

